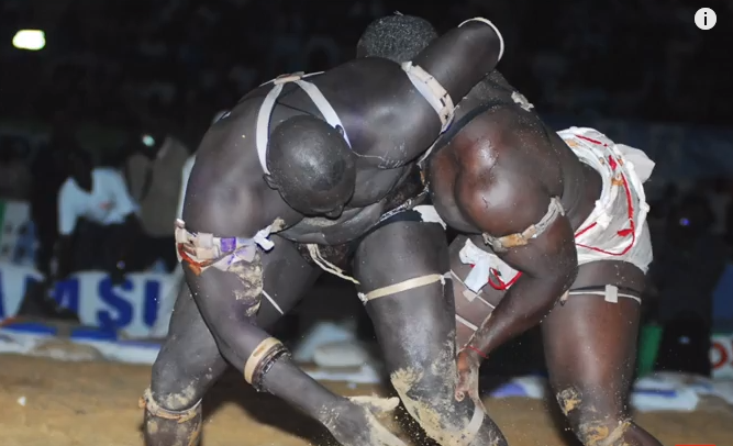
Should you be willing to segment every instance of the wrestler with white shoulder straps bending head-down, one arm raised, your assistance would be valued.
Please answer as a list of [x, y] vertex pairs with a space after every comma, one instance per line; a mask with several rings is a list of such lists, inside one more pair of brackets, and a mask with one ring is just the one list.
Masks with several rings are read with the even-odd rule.
[[493, 69], [500, 43], [489, 22], [467, 21], [411, 65], [358, 59], [280, 77], [212, 125], [177, 222], [191, 292], [178, 297], [142, 400], [148, 446], [198, 442], [200, 401], [227, 363], [343, 445], [401, 445], [373, 414], [384, 402], [333, 394], [267, 333], [321, 269], [352, 278], [338, 266], [349, 259], [406, 404], [421, 401], [444, 445], [491, 443], [484, 411], [443, 384], [455, 376], [447, 243], [421, 208], [415, 159], [449, 124], [451, 98]]

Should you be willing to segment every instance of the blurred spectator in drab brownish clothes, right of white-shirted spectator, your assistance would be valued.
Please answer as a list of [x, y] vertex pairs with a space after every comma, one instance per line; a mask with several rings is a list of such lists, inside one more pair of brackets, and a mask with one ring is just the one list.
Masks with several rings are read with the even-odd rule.
[[141, 146], [125, 165], [130, 193], [140, 204], [145, 237], [136, 253], [135, 266], [146, 268], [163, 259], [170, 272], [177, 264], [174, 221], [189, 154], [181, 142], [163, 134], [143, 135]]

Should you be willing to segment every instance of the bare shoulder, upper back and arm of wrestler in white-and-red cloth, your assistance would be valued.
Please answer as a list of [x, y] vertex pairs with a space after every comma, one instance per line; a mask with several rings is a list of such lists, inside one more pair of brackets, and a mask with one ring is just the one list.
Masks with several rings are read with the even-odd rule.
[[[467, 102], [459, 110], [470, 110]], [[510, 99], [474, 118], [441, 147], [429, 178], [435, 209], [449, 226], [467, 233], [522, 233], [542, 220], [552, 197], [560, 197], [565, 209], [529, 244], [496, 253], [523, 275], [475, 336], [471, 345], [488, 354], [540, 323], [575, 280], [574, 224], [582, 222], [595, 201], [578, 196], [588, 189], [599, 193], [600, 177], [584, 169], [534, 113]]]

